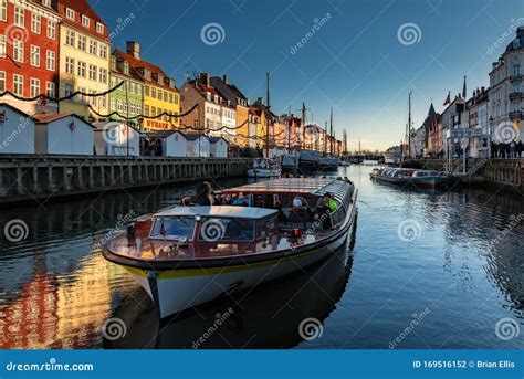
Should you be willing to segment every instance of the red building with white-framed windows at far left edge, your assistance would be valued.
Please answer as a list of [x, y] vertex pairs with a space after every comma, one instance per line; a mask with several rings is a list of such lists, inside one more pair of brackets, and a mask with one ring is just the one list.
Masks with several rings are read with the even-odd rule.
[[[54, 0], [0, 0], [0, 92], [18, 96], [56, 96], [60, 14]], [[56, 104], [3, 96], [25, 113], [56, 112]]]

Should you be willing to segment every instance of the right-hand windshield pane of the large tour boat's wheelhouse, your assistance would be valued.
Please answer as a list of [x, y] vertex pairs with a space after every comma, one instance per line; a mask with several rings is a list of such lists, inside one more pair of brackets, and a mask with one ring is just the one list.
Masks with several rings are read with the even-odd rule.
[[232, 218], [202, 218], [198, 240], [219, 241], [253, 241], [254, 220]]

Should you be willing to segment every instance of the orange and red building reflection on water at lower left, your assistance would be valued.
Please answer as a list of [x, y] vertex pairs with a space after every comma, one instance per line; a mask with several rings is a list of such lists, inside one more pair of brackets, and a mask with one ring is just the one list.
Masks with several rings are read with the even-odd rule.
[[90, 347], [111, 312], [115, 271], [106, 266], [97, 254], [66, 276], [35, 272], [18, 299], [2, 305], [0, 348]]

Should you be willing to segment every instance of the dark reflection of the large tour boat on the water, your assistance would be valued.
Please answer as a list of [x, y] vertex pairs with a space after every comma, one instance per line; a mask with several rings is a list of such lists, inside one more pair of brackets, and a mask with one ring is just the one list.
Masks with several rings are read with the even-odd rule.
[[[164, 322], [158, 320], [148, 296], [144, 292], [135, 293], [132, 301], [124, 302], [111, 316], [125, 322], [125, 337], [105, 340], [104, 347], [240, 349], [296, 346], [302, 341], [301, 323], [315, 318], [321, 325], [336, 308], [346, 288], [353, 264], [348, 244], [353, 242], [354, 232], [349, 235], [348, 243], [305, 272], [254, 291], [232, 294]], [[219, 319], [224, 322], [217, 325]]]

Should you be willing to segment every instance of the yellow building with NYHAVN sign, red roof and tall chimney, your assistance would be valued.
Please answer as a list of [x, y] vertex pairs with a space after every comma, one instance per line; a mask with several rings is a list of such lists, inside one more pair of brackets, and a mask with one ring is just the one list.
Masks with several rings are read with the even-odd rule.
[[158, 118], [144, 118], [142, 127], [146, 130], [172, 130], [180, 126], [180, 92], [175, 78], [169, 77], [157, 65], [140, 57], [140, 45], [128, 41], [126, 52], [117, 50], [115, 54], [129, 64], [129, 69], [144, 82], [145, 116], [159, 116]]

